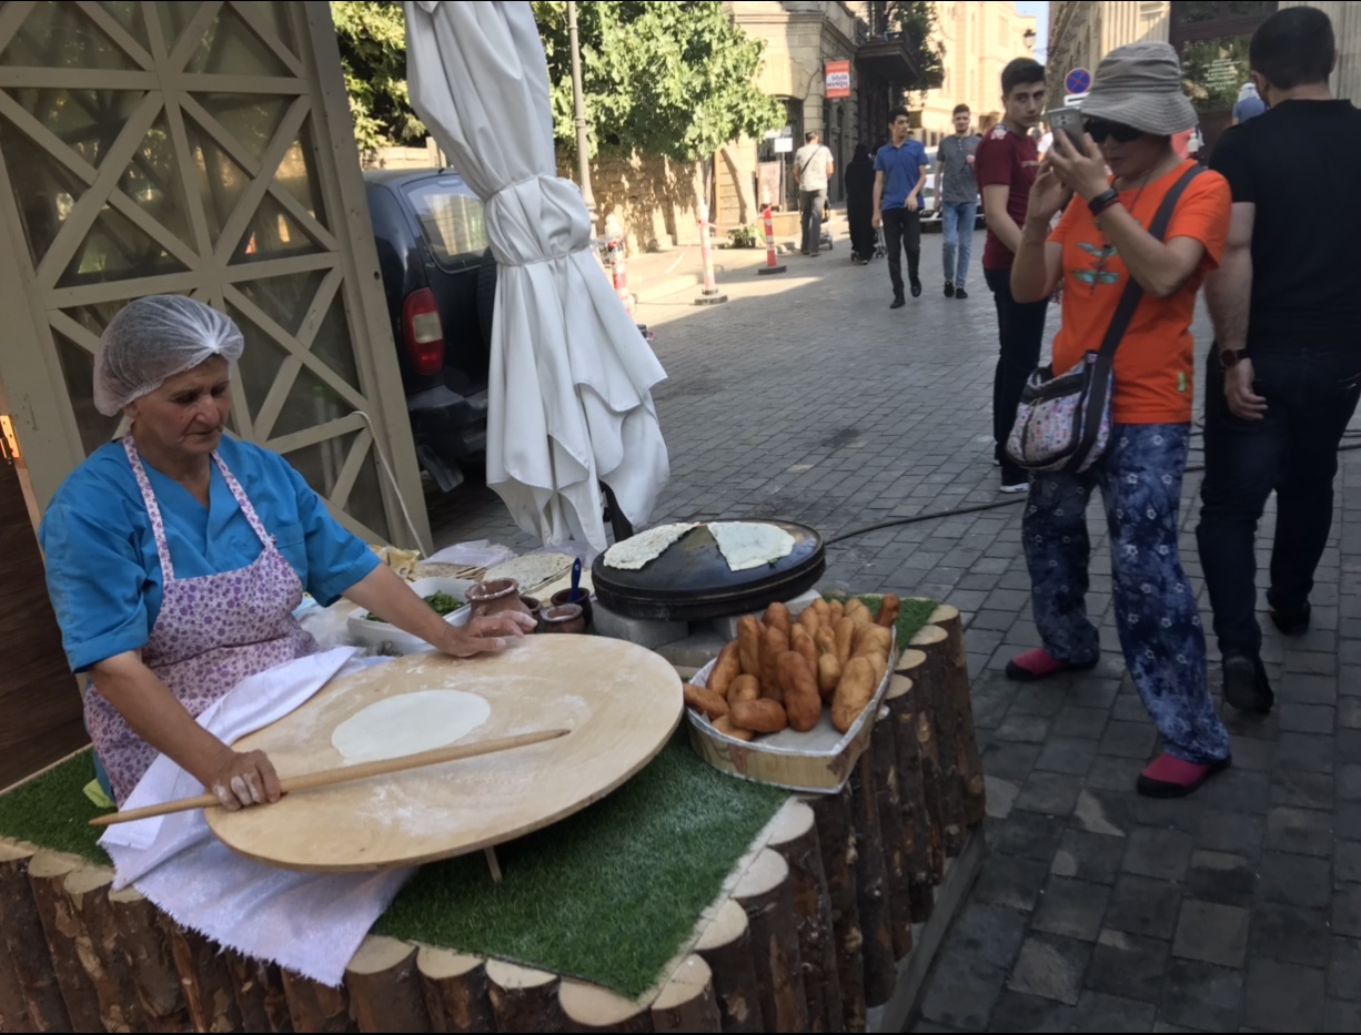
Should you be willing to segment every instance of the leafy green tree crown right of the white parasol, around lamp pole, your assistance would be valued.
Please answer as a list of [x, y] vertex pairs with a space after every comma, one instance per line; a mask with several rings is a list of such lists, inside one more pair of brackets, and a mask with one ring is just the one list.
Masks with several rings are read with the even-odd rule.
[[[568, 12], [536, 0], [553, 88], [553, 129], [576, 150]], [[759, 137], [784, 110], [755, 84], [764, 45], [717, 3], [596, 0], [577, 4], [591, 150], [691, 160], [736, 136]]]

